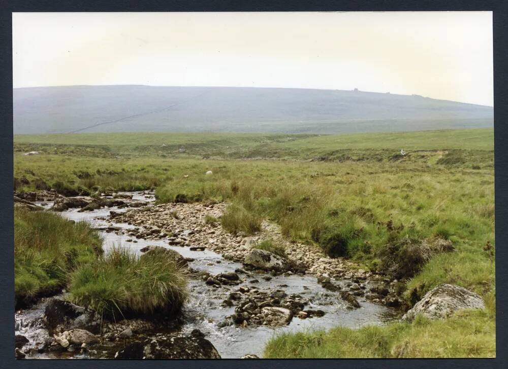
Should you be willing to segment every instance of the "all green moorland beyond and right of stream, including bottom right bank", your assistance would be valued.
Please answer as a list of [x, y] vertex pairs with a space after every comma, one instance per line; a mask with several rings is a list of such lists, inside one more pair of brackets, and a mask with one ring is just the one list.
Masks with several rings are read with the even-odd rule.
[[[358, 352], [363, 345], [359, 355], [372, 357], [494, 353], [492, 129], [22, 135], [14, 143], [16, 191], [155, 188], [158, 202], [228, 201], [218, 221], [229, 231], [255, 233], [262, 219], [270, 219], [289, 239], [319, 244], [331, 256], [396, 277], [408, 306], [440, 283], [478, 292], [488, 305], [481, 314], [444, 322], [283, 336], [270, 342], [266, 356], [354, 357], [345, 346], [332, 350], [330, 342], [343, 336], [351, 336], [347, 345]], [[40, 154], [23, 155], [27, 151]], [[207, 170], [213, 175], [205, 175]], [[436, 239], [451, 240], [454, 251], [419, 246]], [[465, 348], [454, 348], [451, 333], [443, 334], [450, 329], [457, 340], [472, 337], [464, 340]], [[435, 345], [427, 344], [432, 338]]]

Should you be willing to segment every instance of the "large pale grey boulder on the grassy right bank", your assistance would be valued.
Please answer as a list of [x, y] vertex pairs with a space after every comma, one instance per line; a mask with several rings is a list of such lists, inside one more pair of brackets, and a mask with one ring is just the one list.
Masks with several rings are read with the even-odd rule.
[[453, 284], [440, 284], [427, 292], [402, 320], [411, 321], [419, 314], [430, 319], [443, 319], [458, 310], [484, 308], [485, 303], [477, 293]]

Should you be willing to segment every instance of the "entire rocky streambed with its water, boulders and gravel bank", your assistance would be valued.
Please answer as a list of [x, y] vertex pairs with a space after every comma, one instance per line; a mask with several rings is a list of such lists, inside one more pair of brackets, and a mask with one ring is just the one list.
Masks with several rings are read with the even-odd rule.
[[[19, 357], [261, 356], [265, 343], [277, 332], [360, 327], [401, 316], [395, 309], [399, 301], [393, 281], [345, 260], [330, 259], [317, 247], [290, 243], [276, 225], [267, 222], [256, 237], [231, 235], [214, 221], [225, 204], [154, 205], [150, 192], [99, 200], [24, 200], [60, 211], [71, 220], [90, 222], [104, 237], [105, 252], [114, 245], [139, 254], [172, 250], [167, 251], [169, 256], [188, 269], [189, 298], [181, 315], [171, 321], [106, 322], [96, 317], [88, 325], [82, 324], [86, 319], [81, 313], [69, 313], [79, 307], [63, 309], [62, 302], [55, 304], [54, 299], [62, 296], [42, 299], [16, 312]], [[285, 246], [287, 259], [252, 248], [267, 238]], [[67, 317], [60, 314], [62, 309]], [[71, 319], [72, 324], [67, 320], [59, 327], [54, 319], [48, 324], [51, 314]], [[85, 331], [91, 331], [93, 338], [81, 328], [88, 328]]]

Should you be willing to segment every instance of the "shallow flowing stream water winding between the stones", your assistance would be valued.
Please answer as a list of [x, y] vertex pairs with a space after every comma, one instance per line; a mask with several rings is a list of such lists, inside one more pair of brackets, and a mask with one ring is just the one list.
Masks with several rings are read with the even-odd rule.
[[[152, 194], [130, 193], [133, 200], [153, 202]], [[126, 200], [127, 201], [127, 200]], [[51, 202], [37, 203], [46, 208], [52, 206]], [[70, 209], [61, 212], [61, 215], [72, 220], [86, 220], [93, 227], [105, 228], [113, 225], [122, 230], [134, 228], [134, 226], [124, 223], [114, 223], [107, 219], [109, 211], [126, 211], [130, 208], [105, 208], [91, 212], [78, 212], [78, 209]], [[132, 237], [126, 234], [116, 234], [114, 232], [100, 231], [104, 238], [104, 249], [108, 252], [114, 245], [129, 247], [136, 252], [147, 245], [159, 245], [174, 249], [184, 257], [192, 258], [194, 261], [189, 266], [196, 269], [207, 271], [210, 274], [223, 272], [233, 272], [237, 268], [242, 268], [242, 264], [224, 259], [220, 254], [211, 250], [190, 251], [189, 247], [170, 246], [163, 240], [136, 239], [134, 242], [126, 242]], [[120, 232], [118, 232], [120, 233]], [[338, 292], [330, 292], [317, 283], [315, 276], [310, 275], [279, 275], [271, 276], [269, 281], [262, 277], [266, 273], [250, 273], [246, 281], [241, 285], [255, 287], [260, 290], [283, 289], [286, 293], [298, 293], [304, 299], [309, 300], [309, 305], [305, 309], [321, 309], [326, 314], [322, 317], [312, 317], [299, 319], [294, 317], [289, 325], [283, 327], [238, 327], [238, 326], [220, 326], [220, 322], [234, 313], [235, 307], [222, 307], [220, 303], [227, 299], [229, 293], [237, 290], [239, 286], [226, 286], [214, 288], [206, 285], [201, 279], [191, 279], [189, 281], [189, 298], [184, 306], [182, 314], [182, 323], [177, 327], [161, 327], [157, 331], [179, 331], [187, 335], [193, 329], [200, 329], [217, 349], [223, 358], [239, 358], [245, 354], [256, 354], [261, 356], [265, 343], [275, 334], [282, 331], [302, 331], [307, 329], [329, 329], [341, 325], [345, 327], [358, 328], [366, 324], [384, 324], [400, 317], [400, 313], [394, 309], [379, 306], [366, 301], [364, 298], [358, 298], [361, 304], [359, 309], [347, 309], [347, 304], [340, 298]], [[243, 279], [245, 276], [241, 276]], [[249, 281], [257, 279], [259, 282], [253, 284]], [[344, 286], [346, 281], [334, 281], [335, 284]], [[16, 334], [23, 335], [30, 341], [25, 348], [30, 348], [36, 342], [41, 342], [47, 337], [47, 330], [42, 323], [42, 316], [47, 304], [47, 299], [42, 299], [38, 304], [28, 309], [16, 312]], [[33, 346], [32, 346], [33, 347]], [[25, 349], [24, 348], [24, 349]], [[111, 347], [103, 347], [104, 356], [112, 357], [114, 351], [118, 350], [113, 344]], [[100, 355], [99, 355], [100, 356]], [[73, 353], [63, 354], [27, 354], [27, 358], [55, 358], [55, 357], [88, 357], [86, 354], [75, 355]]]

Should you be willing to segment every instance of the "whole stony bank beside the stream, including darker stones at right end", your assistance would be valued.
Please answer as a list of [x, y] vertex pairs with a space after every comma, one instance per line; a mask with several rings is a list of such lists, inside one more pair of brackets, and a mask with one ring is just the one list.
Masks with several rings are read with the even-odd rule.
[[[357, 264], [340, 257], [332, 259], [319, 246], [290, 242], [281, 235], [275, 224], [263, 222], [261, 232], [255, 236], [230, 234], [218, 222], [206, 224], [207, 215], [219, 218], [226, 208], [225, 203], [171, 203], [132, 209], [124, 213], [112, 212], [111, 218], [114, 222], [136, 226], [129, 232], [132, 242], [136, 238], [144, 238], [167, 240], [170, 245], [206, 247], [220, 253], [225, 259], [240, 263], [244, 262], [252, 244], [270, 238], [275, 243], [284, 245], [289, 261], [304, 269], [306, 274], [315, 275], [323, 287], [337, 290], [334, 279], [351, 280], [346, 283], [350, 289], [342, 292], [342, 298], [353, 306], [356, 303], [351, 294], [365, 296], [378, 304], [401, 306], [402, 302], [395, 293], [397, 281], [362, 270]], [[365, 284], [370, 289], [365, 289]]]

